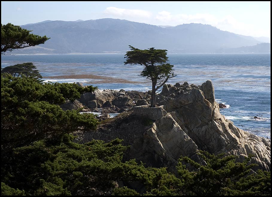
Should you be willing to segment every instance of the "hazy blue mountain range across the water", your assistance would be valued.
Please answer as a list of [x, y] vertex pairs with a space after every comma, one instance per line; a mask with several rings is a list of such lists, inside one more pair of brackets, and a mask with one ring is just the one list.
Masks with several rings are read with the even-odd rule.
[[194, 23], [159, 27], [120, 19], [48, 20], [21, 27], [51, 39], [39, 47], [12, 53], [125, 53], [128, 45], [139, 49], [166, 49], [168, 53], [224, 53], [262, 43], [251, 36]]

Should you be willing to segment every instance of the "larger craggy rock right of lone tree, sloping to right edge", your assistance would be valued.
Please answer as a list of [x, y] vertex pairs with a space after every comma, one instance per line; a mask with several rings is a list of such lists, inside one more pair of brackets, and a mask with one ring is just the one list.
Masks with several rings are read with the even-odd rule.
[[238, 156], [238, 161], [253, 154], [252, 162], [270, 170], [270, 142], [235, 127], [220, 114], [210, 80], [201, 86], [183, 85], [180, 89], [166, 98], [164, 109], [172, 114], [198, 149], [215, 154], [225, 152]]

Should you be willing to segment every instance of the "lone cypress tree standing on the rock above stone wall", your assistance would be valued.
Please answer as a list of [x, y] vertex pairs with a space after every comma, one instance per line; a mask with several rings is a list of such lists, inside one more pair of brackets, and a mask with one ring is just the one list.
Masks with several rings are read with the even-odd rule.
[[[156, 91], [162, 87], [170, 78], [175, 77], [173, 65], [166, 63], [168, 57], [167, 50], [149, 48], [140, 50], [130, 46], [130, 51], [125, 54], [124, 64], [140, 64], [145, 68], [141, 73], [142, 77], [152, 81], [151, 106], [156, 106]], [[157, 87], [156, 87], [157, 86]]]

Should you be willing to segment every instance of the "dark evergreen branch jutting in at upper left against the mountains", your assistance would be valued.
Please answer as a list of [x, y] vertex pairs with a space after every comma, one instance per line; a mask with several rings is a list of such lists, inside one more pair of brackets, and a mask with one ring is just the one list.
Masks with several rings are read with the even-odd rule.
[[21, 28], [19, 25], [8, 23], [1, 24], [1, 54], [14, 49], [44, 44], [50, 38], [38, 36], [30, 33], [31, 30]]

